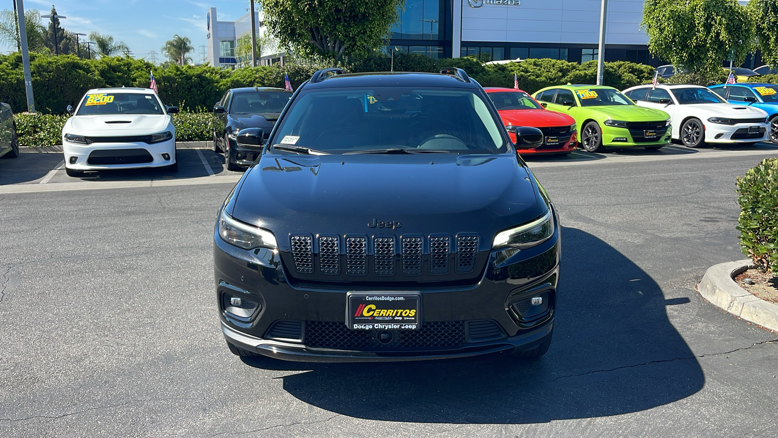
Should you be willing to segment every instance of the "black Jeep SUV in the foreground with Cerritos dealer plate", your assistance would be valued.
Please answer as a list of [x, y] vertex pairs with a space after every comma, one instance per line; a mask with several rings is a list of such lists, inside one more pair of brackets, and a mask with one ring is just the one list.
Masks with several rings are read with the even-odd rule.
[[[545, 354], [559, 222], [461, 69], [320, 70], [219, 209], [216, 298], [236, 355], [403, 361]], [[242, 144], [261, 144], [244, 129]]]

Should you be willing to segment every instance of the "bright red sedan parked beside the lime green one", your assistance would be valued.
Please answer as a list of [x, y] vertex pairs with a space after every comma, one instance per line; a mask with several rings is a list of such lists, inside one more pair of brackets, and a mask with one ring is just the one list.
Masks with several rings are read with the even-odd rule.
[[[576, 121], [569, 115], [549, 111], [529, 94], [513, 88], [486, 87], [505, 125], [532, 126], [543, 132], [545, 141], [537, 149], [519, 150], [519, 154], [569, 154], [578, 146]], [[516, 141], [513, 134], [511, 140]]]

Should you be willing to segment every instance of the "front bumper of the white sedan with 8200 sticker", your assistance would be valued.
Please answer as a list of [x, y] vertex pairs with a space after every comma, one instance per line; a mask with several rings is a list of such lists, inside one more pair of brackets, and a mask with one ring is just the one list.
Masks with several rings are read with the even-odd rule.
[[[122, 151], [128, 151], [131, 157], [124, 157]], [[143, 157], [140, 160], [133, 160], [145, 151], [150, 155], [150, 161]], [[176, 139], [159, 143], [70, 143], [63, 139], [62, 153], [65, 155], [65, 167], [77, 171], [99, 171], [109, 169], [135, 169], [135, 168], [159, 168], [169, 166], [176, 162]], [[168, 159], [163, 157], [167, 154]], [[103, 160], [96, 159], [97, 155]], [[90, 159], [91, 157], [91, 159]], [[106, 158], [118, 157], [119, 160], [108, 160]], [[125, 162], [121, 161], [145, 161], [145, 162]], [[91, 161], [91, 162], [90, 162]], [[107, 161], [114, 161], [110, 164]]]

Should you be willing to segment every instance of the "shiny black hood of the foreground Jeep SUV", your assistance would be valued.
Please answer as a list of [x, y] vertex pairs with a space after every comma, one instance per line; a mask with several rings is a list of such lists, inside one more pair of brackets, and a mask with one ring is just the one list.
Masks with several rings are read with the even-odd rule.
[[496, 231], [545, 214], [530, 178], [514, 154], [263, 154], [232, 214], [273, 231], [282, 250], [290, 233], [460, 232], [477, 232], [489, 249]]

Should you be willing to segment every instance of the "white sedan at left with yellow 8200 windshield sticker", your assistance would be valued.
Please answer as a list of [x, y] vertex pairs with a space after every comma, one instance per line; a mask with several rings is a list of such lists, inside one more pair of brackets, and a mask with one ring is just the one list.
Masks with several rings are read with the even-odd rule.
[[178, 170], [176, 130], [171, 113], [154, 90], [148, 88], [97, 88], [82, 97], [62, 128], [65, 171], [122, 168]]

